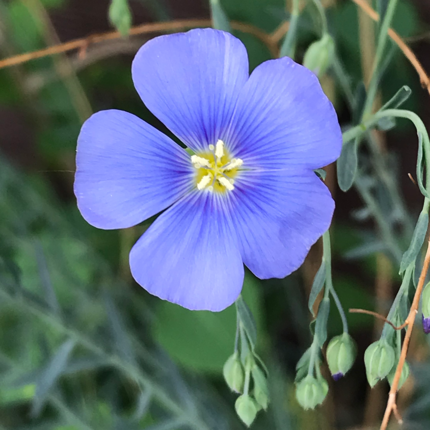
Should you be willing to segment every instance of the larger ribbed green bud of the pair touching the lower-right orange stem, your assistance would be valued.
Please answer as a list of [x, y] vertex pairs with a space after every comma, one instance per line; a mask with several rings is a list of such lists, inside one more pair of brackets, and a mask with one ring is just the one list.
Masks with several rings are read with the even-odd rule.
[[380, 339], [369, 345], [364, 353], [364, 364], [369, 385], [373, 388], [376, 382], [387, 376], [394, 366], [396, 354], [386, 339]]

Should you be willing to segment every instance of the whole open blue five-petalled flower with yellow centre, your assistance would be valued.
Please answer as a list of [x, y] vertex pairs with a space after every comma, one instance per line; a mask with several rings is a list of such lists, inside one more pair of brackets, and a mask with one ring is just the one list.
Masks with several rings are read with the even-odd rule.
[[130, 252], [134, 279], [188, 309], [220, 311], [241, 292], [243, 264], [261, 279], [296, 270], [334, 210], [313, 170], [342, 146], [315, 75], [284, 57], [249, 76], [237, 38], [195, 29], [145, 43], [132, 76], [146, 107], [194, 152], [121, 110], [82, 126], [82, 216], [118, 229], [161, 212]]

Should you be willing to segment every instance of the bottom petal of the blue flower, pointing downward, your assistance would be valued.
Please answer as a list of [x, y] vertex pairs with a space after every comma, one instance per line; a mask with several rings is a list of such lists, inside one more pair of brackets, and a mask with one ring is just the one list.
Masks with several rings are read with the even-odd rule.
[[221, 311], [234, 303], [244, 270], [223, 200], [198, 191], [161, 214], [130, 252], [137, 283], [191, 310]]

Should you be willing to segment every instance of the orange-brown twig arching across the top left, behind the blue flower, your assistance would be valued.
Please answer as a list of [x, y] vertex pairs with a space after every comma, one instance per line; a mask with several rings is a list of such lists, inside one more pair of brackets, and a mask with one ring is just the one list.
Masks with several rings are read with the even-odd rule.
[[[149, 23], [142, 24], [140, 26], [135, 26], [130, 29], [130, 35], [138, 34], [149, 34], [149, 33], [160, 33], [168, 31], [184, 30], [188, 28], [196, 27], [210, 27], [212, 25], [211, 20], [174, 20], [161, 23]], [[236, 21], [231, 22], [231, 26], [235, 30], [243, 31], [244, 33], [250, 33], [259, 38], [264, 42], [269, 48], [270, 54], [276, 56], [277, 54], [277, 41], [272, 39], [272, 37], [260, 30], [257, 27], [251, 26], [249, 24], [239, 23]], [[71, 40], [69, 42], [61, 43], [58, 45], [53, 45], [48, 48], [44, 48], [38, 51], [29, 52], [26, 54], [14, 55], [9, 58], [4, 58], [0, 60], [0, 69], [4, 67], [14, 66], [16, 64], [22, 64], [36, 58], [42, 58], [54, 54], [61, 54], [73, 50], [80, 50], [82, 55], [87, 47], [92, 44], [105, 42], [107, 40], [118, 39], [122, 37], [118, 31], [108, 31], [106, 33], [93, 34], [88, 37], [83, 37], [81, 39]]]

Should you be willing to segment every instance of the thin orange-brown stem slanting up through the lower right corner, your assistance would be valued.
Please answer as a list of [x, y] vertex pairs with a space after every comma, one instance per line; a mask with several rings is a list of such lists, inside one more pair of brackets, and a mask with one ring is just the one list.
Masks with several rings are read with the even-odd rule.
[[418, 313], [418, 305], [420, 303], [420, 297], [423, 291], [424, 281], [426, 280], [427, 271], [429, 270], [429, 265], [430, 265], [430, 241], [427, 245], [426, 257], [424, 258], [423, 269], [421, 270], [420, 279], [418, 281], [418, 286], [415, 291], [415, 296], [412, 301], [412, 305], [410, 307], [409, 315], [406, 318], [407, 330], [404, 336], [402, 351], [400, 353], [399, 363], [397, 364], [397, 368], [396, 368], [396, 374], [394, 375], [393, 383], [391, 384], [391, 390], [388, 396], [387, 408], [385, 409], [385, 414], [382, 420], [380, 430], [387, 429], [391, 412], [394, 411], [394, 413], [396, 413], [395, 411], [397, 410], [397, 405], [396, 405], [397, 389], [399, 387], [400, 377], [402, 376], [403, 365], [404, 365], [404, 361], [406, 360], [407, 349], [409, 346], [409, 341], [412, 334], [415, 317]]

